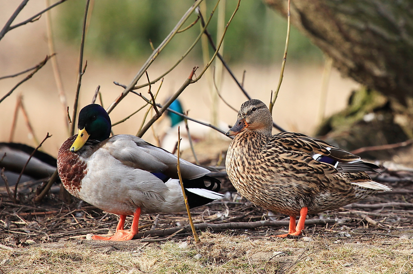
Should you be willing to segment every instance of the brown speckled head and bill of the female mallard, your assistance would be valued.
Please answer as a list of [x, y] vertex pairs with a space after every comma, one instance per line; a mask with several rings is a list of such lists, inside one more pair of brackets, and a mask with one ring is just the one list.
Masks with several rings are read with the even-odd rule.
[[226, 133], [227, 136], [237, 135], [244, 129], [257, 131], [266, 136], [271, 136], [273, 118], [266, 104], [258, 99], [244, 102], [238, 112], [235, 125]]

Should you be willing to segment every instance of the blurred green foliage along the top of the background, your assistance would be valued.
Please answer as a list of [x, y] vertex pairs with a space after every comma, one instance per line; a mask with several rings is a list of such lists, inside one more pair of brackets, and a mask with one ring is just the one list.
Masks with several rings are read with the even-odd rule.
[[[209, 16], [216, 2], [206, 1]], [[59, 6], [57, 27], [59, 37], [65, 42], [78, 44], [80, 41], [85, 2], [72, 0]], [[86, 50], [89, 54], [102, 54], [128, 61], [146, 59], [152, 52], [149, 40], [157, 47], [192, 3], [192, 0], [95, 0], [86, 37]], [[236, 4], [236, 0], [226, 1], [226, 21]], [[214, 38], [217, 13], [208, 27]], [[196, 17], [195, 13], [192, 14], [184, 26], [188, 26]], [[261, 0], [243, 0], [225, 36], [224, 57], [230, 62], [262, 64], [280, 61], [285, 47], [286, 30], [287, 21]], [[197, 23], [176, 35], [162, 55], [183, 54], [199, 31]], [[201, 59], [201, 51], [199, 43], [190, 57]], [[211, 50], [210, 56], [212, 53]], [[296, 61], [319, 61], [322, 53], [307, 37], [292, 27], [288, 57]]]

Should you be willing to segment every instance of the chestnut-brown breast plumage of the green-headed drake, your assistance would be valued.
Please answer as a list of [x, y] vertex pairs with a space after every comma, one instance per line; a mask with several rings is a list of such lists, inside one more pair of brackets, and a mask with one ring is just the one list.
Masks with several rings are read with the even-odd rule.
[[57, 171], [64, 188], [73, 196], [78, 197], [82, 180], [87, 174], [87, 164], [76, 153], [69, 151], [76, 137], [77, 135], [69, 137], [60, 147], [57, 154]]

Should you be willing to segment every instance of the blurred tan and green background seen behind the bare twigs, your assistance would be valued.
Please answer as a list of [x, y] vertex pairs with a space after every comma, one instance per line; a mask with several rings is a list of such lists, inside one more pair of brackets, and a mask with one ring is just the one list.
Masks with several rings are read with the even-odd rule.
[[[7, 0], [1, 2], [0, 24], [3, 25], [18, 3]], [[236, 2], [226, 1], [226, 20], [233, 12]], [[209, 14], [215, 2], [206, 0], [206, 3]], [[190, 5], [191, 0], [95, 1], [85, 42], [84, 59], [88, 61], [88, 66], [83, 75], [79, 110], [90, 103], [97, 85], [101, 86], [104, 106], [109, 106], [123, 90], [112, 82], [128, 84], [152, 52], [149, 40], [157, 47]], [[28, 18], [44, 7], [45, 0], [29, 1], [16, 22]], [[69, 0], [52, 9], [56, 58], [70, 113], [76, 90], [84, 7], [85, 0]], [[45, 17], [42, 16], [38, 21], [16, 28], [5, 35], [0, 43], [0, 76], [31, 67], [48, 54]], [[196, 15], [193, 14], [184, 25], [188, 26], [195, 19]], [[244, 87], [253, 98], [269, 102], [270, 92], [277, 86], [286, 28], [286, 20], [260, 0], [241, 1], [240, 9], [225, 36], [223, 56], [239, 80], [242, 79], [243, 70], [247, 71]], [[216, 15], [208, 29], [215, 38]], [[169, 69], [198, 34], [199, 26], [196, 25], [174, 37], [149, 68], [149, 77], [154, 79]], [[210, 49], [209, 55], [212, 53]], [[203, 67], [201, 42], [182, 63], [166, 75], [157, 101], [162, 103], [176, 91], [196, 65]], [[273, 112], [274, 121], [286, 130], [306, 134], [312, 134], [315, 130], [319, 122], [323, 66], [324, 60], [320, 50], [292, 27], [284, 80]], [[212, 74], [213, 68], [209, 70]], [[222, 77], [220, 89], [223, 97], [235, 108], [239, 108], [247, 99], [226, 71]], [[22, 78], [24, 75], [2, 80], [0, 95], [7, 93]], [[138, 84], [145, 82], [146, 77], [142, 77]], [[159, 82], [154, 84], [152, 90], [156, 90], [158, 85]], [[191, 84], [185, 89], [179, 97], [184, 110], [190, 110], [190, 117], [210, 119], [210, 85], [205, 75], [198, 83]], [[357, 83], [343, 79], [333, 70], [328, 84], [325, 115], [331, 115], [344, 108], [349, 93], [356, 88]], [[147, 88], [138, 92], [146, 94]], [[0, 104], [0, 141], [9, 141], [14, 107], [20, 94], [23, 95], [23, 103], [37, 138], [42, 140], [47, 132], [53, 135], [45, 142], [43, 150], [51, 155], [57, 155], [58, 148], [67, 138], [64, 125], [66, 114], [62, 111], [51, 64], [47, 63], [31, 80], [22, 84]], [[143, 104], [141, 98], [128, 94], [111, 113], [112, 123], [131, 114]], [[228, 124], [235, 122], [236, 113], [233, 110], [221, 101], [218, 102], [217, 108], [219, 120]], [[145, 110], [142, 110], [126, 122], [114, 126], [114, 133], [136, 134], [144, 112]], [[166, 119], [157, 122], [156, 134], [161, 135], [167, 126]], [[143, 138], [155, 143], [152, 131], [147, 131]], [[36, 146], [28, 134], [21, 113], [13, 141]]]

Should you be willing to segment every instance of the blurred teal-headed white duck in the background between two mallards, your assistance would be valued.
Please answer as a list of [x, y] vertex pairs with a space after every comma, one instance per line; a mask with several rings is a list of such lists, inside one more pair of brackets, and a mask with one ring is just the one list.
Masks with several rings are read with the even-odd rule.
[[[169, 106], [169, 108], [171, 108], [172, 110], [175, 110], [176, 112], [183, 114], [183, 107], [178, 99], [173, 101], [172, 104]], [[187, 148], [190, 148], [188, 132], [186, 131], [185, 121], [183, 120], [183, 117], [175, 113], [169, 112], [169, 111], [167, 111], [166, 113], [169, 119], [171, 120], [171, 126], [166, 131], [166, 133], [164, 134], [164, 137], [161, 140], [161, 147], [165, 150], [168, 150], [169, 152], [172, 152], [172, 153], [176, 152], [175, 150], [176, 150], [176, 142], [178, 141], [178, 126], [179, 126], [180, 136], [182, 138], [182, 141], [180, 143], [180, 150], [185, 150]], [[210, 123], [206, 119], [200, 119], [200, 120], [208, 124]], [[228, 130], [228, 124], [225, 124], [224, 122], [221, 122], [221, 121], [218, 122], [218, 127], [222, 129], [223, 131]], [[203, 141], [207, 139], [210, 136], [211, 130], [213, 130], [209, 128], [208, 126], [204, 126], [202, 124], [198, 124], [190, 120], [188, 120], [188, 128], [189, 128], [193, 143], [197, 143], [199, 141]], [[228, 139], [221, 133], [218, 133], [217, 136], [225, 140]]]

